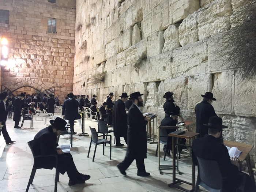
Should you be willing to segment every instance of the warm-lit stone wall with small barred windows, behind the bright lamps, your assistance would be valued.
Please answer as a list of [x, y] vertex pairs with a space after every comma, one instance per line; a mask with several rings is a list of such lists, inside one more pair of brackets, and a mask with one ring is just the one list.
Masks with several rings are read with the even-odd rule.
[[[3, 86], [11, 91], [30, 86], [39, 92], [55, 87], [64, 100], [73, 83], [75, 6], [75, 0], [0, 0], [0, 9], [10, 11], [10, 27], [0, 27], [10, 52], [2, 67]], [[48, 18], [56, 18], [56, 34], [47, 32]]]

